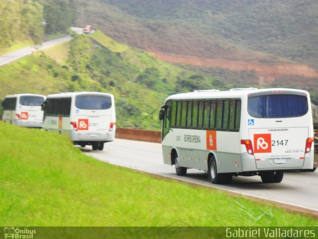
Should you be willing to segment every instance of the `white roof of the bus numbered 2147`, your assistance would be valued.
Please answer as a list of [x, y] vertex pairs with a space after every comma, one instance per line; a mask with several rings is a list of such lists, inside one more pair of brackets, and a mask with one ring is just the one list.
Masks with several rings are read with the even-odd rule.
[[270, 88], [270, 89], [256, 89], [256, 88], [238, 88], [231, 89], [228, 91], [217, 91], [217, 90], [202, 90], [189, 93], [181, 93], [169, 96], [167, 100], [186, 100], [186, 99], [210, 99], [210, 98], [240, 98], [253, 93], [298, 93], [307, 95], [307, 91], [287, 88]]

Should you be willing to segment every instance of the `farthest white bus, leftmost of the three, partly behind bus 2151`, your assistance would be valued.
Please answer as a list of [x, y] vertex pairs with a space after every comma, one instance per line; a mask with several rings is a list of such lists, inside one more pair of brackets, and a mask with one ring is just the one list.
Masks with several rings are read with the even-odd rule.
[[17, 126], [42, 127], [43, 112], [41, 104], [45, 96], [35, 94], [16, 94], [6, 96], [2, 102], [2, 121]]

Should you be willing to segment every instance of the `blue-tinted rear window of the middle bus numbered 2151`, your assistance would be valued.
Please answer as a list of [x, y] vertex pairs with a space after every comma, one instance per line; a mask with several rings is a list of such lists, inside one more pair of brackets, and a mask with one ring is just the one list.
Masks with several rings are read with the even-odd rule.
[[111, 107], [111, 98], [107, 96], [77, 96], [75, 106], [80, 110], [107, 110]]

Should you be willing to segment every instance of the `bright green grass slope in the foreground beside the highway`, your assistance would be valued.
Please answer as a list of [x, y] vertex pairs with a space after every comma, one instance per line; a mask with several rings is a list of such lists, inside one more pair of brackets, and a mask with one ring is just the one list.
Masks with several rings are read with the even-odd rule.
[[318, 226], [243, 197], [100, 162], [58, 134], [0, 122], [0, 141], [1, 226]]

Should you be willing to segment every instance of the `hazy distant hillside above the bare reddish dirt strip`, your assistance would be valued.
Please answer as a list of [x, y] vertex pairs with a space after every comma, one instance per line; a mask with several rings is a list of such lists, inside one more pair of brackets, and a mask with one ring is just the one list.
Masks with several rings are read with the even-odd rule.
[[89, 5], [79, 0], [79, 5], [88, 22], [142, 49], [265, 62], [285, 57], [318, 69], [317, 0], [92, 0]]

